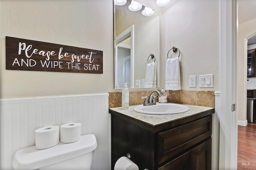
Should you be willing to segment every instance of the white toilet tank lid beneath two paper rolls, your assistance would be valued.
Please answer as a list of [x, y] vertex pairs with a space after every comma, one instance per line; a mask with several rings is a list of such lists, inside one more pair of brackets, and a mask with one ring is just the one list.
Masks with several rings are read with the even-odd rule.
[[94, 134], [82, 135], [73, 143], [61, 143], [51, 148], [38, 150], [31, 146], [18, 150], [13, 158], [14, 169], [34, 170], [93, 151], [97, 147]]

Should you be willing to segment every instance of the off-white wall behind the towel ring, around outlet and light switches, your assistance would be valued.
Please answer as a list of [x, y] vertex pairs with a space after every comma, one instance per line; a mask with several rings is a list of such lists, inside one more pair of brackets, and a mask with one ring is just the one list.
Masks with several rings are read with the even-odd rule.
[[[163, 68], [168, 51], [178, 47], [183, 90], [220, 89], [219, 8], [218, 0], [176, 0], [163, 11]], [[214, 88], [199, 88], [204, 74], [214, 75]], [[190, 75], [197, 76], [196, 88], [188, 87]]]

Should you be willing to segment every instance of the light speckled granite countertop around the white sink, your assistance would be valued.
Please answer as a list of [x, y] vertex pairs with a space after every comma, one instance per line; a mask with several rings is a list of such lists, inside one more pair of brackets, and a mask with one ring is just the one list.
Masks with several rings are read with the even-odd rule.
[[202, 106], [194, 106], [194, 105], [186, 105], [189, 107], [189, 111], [178, 114], [170, 114], [170, 115], [149, 115], [144, 113], [138, 113], [134, 111], [134, 107], [138, 105], [129, 106], [129, 109], [122, 109], [122, 107], [110, 108], [111, 111], [116, 111], [122, 115], [126, 115], [128, 117], [132, 117], [133, 119], [137, 119], [139, 121], [145, 122], [152, 126], [157, 126], [160, 124], [164, 124], [170, 121], [175, 121], [177, 119], [182, 119], [185, 117], [190, 117], [192, 115], [196, 115], [202, 113], [204, 111], [210, 111], [214, 113], [214, 108], [212, 107], [202, 107]]

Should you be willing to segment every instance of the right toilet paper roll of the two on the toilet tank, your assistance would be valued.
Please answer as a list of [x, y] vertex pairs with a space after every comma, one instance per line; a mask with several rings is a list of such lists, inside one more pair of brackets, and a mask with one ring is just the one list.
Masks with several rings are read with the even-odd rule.
[[80, 139], [81, 123], [67, 123], [60, 126], [60, 142], [72, 143]]

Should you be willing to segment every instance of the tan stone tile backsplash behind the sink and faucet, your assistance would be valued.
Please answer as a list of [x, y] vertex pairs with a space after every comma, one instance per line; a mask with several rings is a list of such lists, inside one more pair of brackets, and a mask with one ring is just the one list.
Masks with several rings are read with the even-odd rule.
[[[152, 90], [130, 91], [129, 105], [144, 103], [142, 96], [148, 96]], [[168, 90], [168, 102], [187, 105], [197, 105], [214, 108], [214, 91]], [[122, 92], [109, 92], [109, 108], [122, 106]]]

